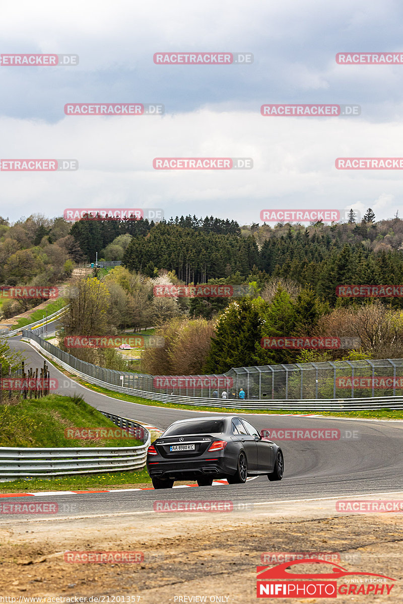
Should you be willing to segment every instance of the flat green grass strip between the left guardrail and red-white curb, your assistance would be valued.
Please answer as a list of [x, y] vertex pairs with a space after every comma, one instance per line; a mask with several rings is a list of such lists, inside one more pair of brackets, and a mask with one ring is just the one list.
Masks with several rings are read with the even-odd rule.
[[33, 480], [13, 480], [0, 483], [0, 493], [34, 493], [57, 490], [98, 490], [131, 489], [138, 484], [151, 485], [151, 479], [144, 468], [141, 471], [105, 472], [105, 474], [72, 474], [56, 478], [33, 478]]

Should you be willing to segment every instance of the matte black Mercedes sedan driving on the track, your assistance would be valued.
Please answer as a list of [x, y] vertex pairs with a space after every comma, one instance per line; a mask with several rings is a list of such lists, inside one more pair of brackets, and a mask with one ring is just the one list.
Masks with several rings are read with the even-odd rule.
[[154, 489], [171, 489], [175, 480], [197, 480], [199, 486], [214, 478], [230, 484], [256, 475], [282, 480], [284, 457], [245, 419], [198, 417], [174, 422], [149, 446], [147, 471]]

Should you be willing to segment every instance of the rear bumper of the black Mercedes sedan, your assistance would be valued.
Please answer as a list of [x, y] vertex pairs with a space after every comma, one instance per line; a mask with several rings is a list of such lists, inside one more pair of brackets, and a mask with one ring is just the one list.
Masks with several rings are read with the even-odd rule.
[[225, 478], [235, 474], [236, 463], [224, 458], [208, 458], [181, 461], [147, 461], [150, 478], [173, 478], [174, 480], [196, 480], [198, 477]]

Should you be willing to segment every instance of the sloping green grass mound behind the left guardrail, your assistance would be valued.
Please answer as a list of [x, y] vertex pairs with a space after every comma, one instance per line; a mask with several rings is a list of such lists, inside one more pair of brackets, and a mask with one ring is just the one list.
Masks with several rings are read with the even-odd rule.
[[[50, 394], [42, 399], [22, 399], [0, 406], [2, 447], [121, 447], [142, 443], [114, 436], [117, 426], [80, 397]], [[106, 428], [101, 438], [74, 438], [66, 429]], [[71, 437], [70, 437], [71, 436]]]

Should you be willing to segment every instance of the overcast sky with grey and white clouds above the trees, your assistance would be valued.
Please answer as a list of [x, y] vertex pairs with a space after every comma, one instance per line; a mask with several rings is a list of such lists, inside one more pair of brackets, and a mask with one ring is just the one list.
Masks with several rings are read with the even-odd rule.
[[[76, 172], [0, 172], [0, 214], [162, 208], [259, 222], [262, 209], [401, 210], [402, 170], [337, 170], [403, 156], [402, 65], [337, 53], [402, 51], [398, 1], [19, 0], [1, 54], [78, 54], [78, 66], [0, 66], [0, 158], [77, 159]], [[159, 52], [253, 53], [249, 65], [155, 65]], [[161, 103], [163, 116], [65, 115], [66, 103]], [[351, 103], [359, 117], [262, 117], [267, 103]], [[251, 170], [153, 169], [156, 157], [253, 158]], [[403, 211], [399, 213], [403, 216]]]

